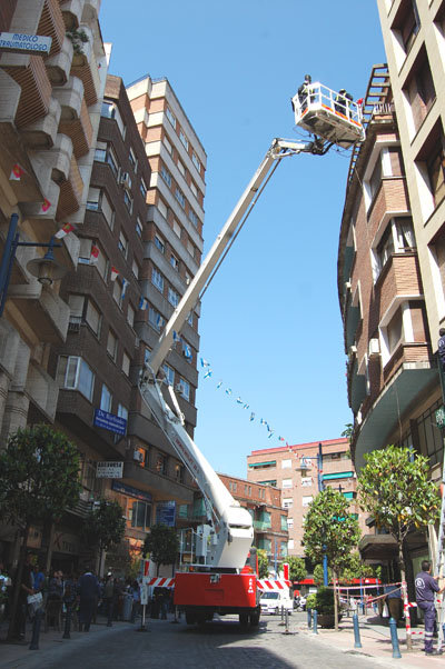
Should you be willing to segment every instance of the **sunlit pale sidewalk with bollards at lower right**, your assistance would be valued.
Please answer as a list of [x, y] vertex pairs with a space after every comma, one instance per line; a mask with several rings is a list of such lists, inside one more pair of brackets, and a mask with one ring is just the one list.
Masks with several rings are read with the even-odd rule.
[[[352, 618], [343, 618], [339, 623], [338, 632], [333, 629], [320, 629], [318, 628], [318, 635], [314, 635], [306, 625], [298, 625], [298, 630], [301, 633], [306, 633], [308, 637], [317, 639], [323, 643], [330, 647], [335, 646], [337, 649], [347, 652], [348, 655], [357, 655], [357, 659], [363, 656], [367, 658], [375, 658], [378, 660], [380, 666], [385, 667], [436, 667], [444, 666], [445, 652], [443, 656], [426, 657], [424, 648], [424, 637], [418, 632], [423, 632], [423, 626], [418, 626], [413, 629], [413, 651], [408, 652], [406, 649], [406, 631], [404, 627], [398, 627], [398, 645], [402, 658], [393, 658], [393, 646], [390, 642], [390, 631], [387, 622], [383, 622], [380, 618], [374, 616], [359, 616], [359, 630], [360, 630], [360, 642], [362, 648], [354, 648], [354, 625]], [[399, 623], [400, 625], [400, 623]], [[436, 647], [437, 641], [434, 640]], [[441, 665], [439, 665], [441, 663]]]

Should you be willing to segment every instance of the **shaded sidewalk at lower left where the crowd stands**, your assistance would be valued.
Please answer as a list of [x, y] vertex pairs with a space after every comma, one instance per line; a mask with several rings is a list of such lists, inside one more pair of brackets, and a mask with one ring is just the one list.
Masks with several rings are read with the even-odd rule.
[[19, 669], [20, 667], [40, 668], [44, 666], [44, 657], [48, 657], [48, 651], [60, 648], [62, 645], [76, 645], [76, 647], [79, 647], [79, 645], [85, 646], [91, 641], [96, 641], [98, 636], [101, 636], [106, 640], [108, 635], [123, 631], [128, 628], [136, 630], [140, 625], [139, 619], [136, 623], [115, 621], [112, 627], [107, 627], [107, 619], [102, 616], [98, 616], [98, 622], [96, 625], [91, 623], [89, 632], [73, 631], [71, 628], [70, 639], [62, 639], [63, 628], [61, 631], [50, 628], [48, 632], [44, 632], [42, 626], [39, 636], [39, 650], [30, 650], [29, 646], [32, 636], [31, 623], [27, 623], [24, 641], [7, 643], [8, 621], [3, 621], [0, 623], [0, 667], [2, 669]]

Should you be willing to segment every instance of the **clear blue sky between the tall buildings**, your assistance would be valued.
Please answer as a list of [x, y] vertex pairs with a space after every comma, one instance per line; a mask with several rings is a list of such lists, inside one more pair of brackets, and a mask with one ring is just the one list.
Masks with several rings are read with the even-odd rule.
[[[358, 99], [385, 62], [375, 0], [106, 0], [100, 22], [110, 72], [167, 77], [205, 147], [205, 250], [273, 138], [299, 138], [304, 74]], [[352, 421], [336, 274], [348, 163], [284, 160], [204, 298], [212, 376], [200, 368], [195, 440], [218, 471], [246, 477], [253, 449], [334, 439]]]

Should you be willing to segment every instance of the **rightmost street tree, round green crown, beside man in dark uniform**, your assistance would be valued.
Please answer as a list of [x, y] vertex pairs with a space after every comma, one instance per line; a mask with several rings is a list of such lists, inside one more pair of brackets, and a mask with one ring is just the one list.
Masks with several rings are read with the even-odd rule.
[[[409, 448], [388, 446], [366, 453], [365, 461], [358, 477], [359, 502], [374, 518], [377, 528], [387, 530], [396, 540], [402, 582], [405, 583], [406, 538], [412, 530], [437, 520], [441, 496], [429, 479], [428, 459]], [[407, 592], [403, 588], [406, 603]]]

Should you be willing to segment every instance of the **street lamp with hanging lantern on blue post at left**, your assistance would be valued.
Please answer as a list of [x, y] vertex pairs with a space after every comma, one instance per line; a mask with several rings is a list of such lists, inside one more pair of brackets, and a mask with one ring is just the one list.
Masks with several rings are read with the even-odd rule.
[[53, 249], [61, 247], [61, 243], [55, 242], [53, 237], [51, 237], [48, 243], [19, 241], [19, 232], [17, 232], [18, 223], [19, 216], [13, 213], [9, 223], [8, 237], [0, 264], [0, 317], [3, 314], [9, 281], [18, 247], [41, 247], [48, 249], [43, 258], [34, 258], [27, 263], [29, 273], [37, 277], [37, 280], [42, 286], [51, 286], [53, 281], [60, 281], [68, 272], [68, 268], [55, 259]]

